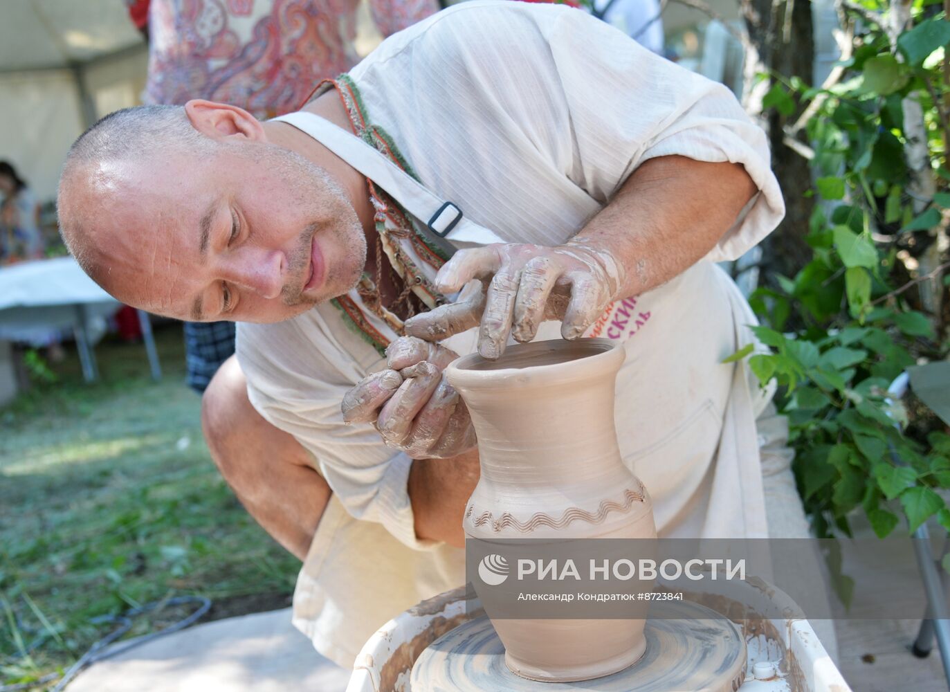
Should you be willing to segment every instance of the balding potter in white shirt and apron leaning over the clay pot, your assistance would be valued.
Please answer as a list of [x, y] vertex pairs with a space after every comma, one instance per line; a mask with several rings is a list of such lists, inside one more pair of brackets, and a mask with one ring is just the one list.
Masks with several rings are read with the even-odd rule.
[[295, 624], [322, 653], [352, 663], [380, 623], [464, 580], [478, 448], [441, 370], [500, 356], [509, 335], [624, 343], [620, 450], [661, 535], [767, 535], [768, 396], [722, 362], [754, 317], [711, 260], [784, 208], [727, 89], [580, 11], [473, 2], [390, 37], [306, 110], [490, 229], [468, 240], [503, 243], [457, 242], [436, 277], [428, 219], [396, 193], [295, 126], [204, 101], [97, 125], [59, 204], [113, 295], [242, 322], [205, 431], [247, 509], [304, 559]]

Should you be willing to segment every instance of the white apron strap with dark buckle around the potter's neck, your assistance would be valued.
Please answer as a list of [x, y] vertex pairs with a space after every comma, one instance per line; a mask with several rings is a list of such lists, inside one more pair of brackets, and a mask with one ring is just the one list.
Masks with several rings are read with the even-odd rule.
[[438, 244], [449, 255], [454, 253], [456, 248], [447, 240], [481, 244], [504, 242], [485, 226], [467, 220], [456, 204], [433, 194], [425, 185], [392, 163], [382, 152], [342, 127], [333, 125], [329, 120], [305, 110], [298, 110], [274, 118], [271, 122], [274, 121], [293, 125], [310, 135], [386, 190], [409, 214], [420, 221], [426, 221], [422, 230], [426, 233], [427, 240]]

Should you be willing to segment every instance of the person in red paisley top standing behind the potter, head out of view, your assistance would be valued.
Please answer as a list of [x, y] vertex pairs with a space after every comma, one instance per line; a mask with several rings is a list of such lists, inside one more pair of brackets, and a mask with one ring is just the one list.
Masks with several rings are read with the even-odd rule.
[[[126, 0], [149, 42], [146, 104], [207, 99], [264, 120], [296, 110], [315, 84], [350, 69], [358, 0]], [[369, 0], [384, 36], [437, 0]], [[203, 392], [235, 352], [233, 322], [185, 322], [187, 382]]]

